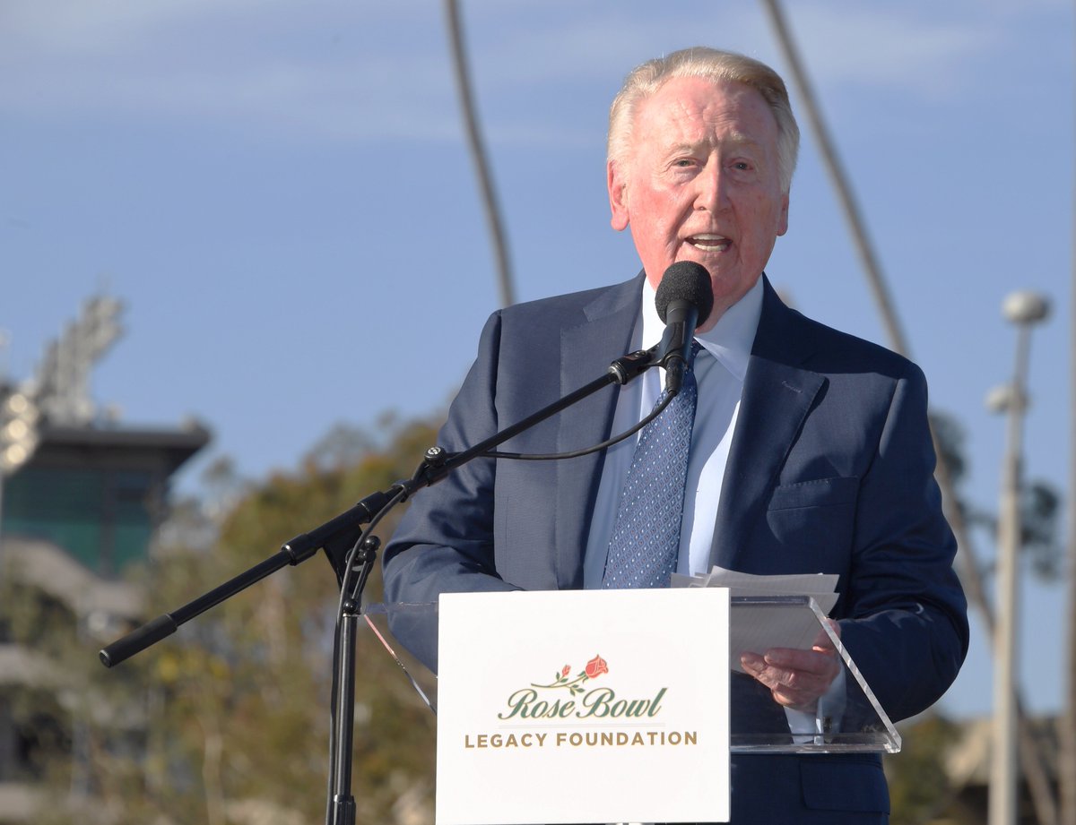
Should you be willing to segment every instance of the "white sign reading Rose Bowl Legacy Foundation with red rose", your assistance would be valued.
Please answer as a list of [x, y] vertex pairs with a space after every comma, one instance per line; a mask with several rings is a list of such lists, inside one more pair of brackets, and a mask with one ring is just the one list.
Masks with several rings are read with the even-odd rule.
[[437, 825], [728, 821], [728, 591], [440, 598]]

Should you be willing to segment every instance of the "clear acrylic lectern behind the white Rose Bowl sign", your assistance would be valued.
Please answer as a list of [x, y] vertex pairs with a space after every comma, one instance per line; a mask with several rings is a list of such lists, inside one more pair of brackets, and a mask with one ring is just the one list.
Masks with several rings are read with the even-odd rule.
[[[366, 629], [373, 633], [436, 713], [437, 678], [410, 657], [393, 633], [437, 634], [435, 604], [374, 604], [363, 609]], [[843, 672], [812, 712], [787, 712], [768, 689], [738, 669], [739, 652], [776, 634], [771, 647], [810, 647], [826, 634], [837, 649]], [[805, 639], [792, 642], [790, 639]], [[753, 650], [762, 653], [764, 650]], [[815, 599], [809, 596], [733, 596], [730, 610], [730, 748], [734, 753], [850, 753], [901, 750], [901, 736], [882, 710], [848, 651], [840, 643]]]

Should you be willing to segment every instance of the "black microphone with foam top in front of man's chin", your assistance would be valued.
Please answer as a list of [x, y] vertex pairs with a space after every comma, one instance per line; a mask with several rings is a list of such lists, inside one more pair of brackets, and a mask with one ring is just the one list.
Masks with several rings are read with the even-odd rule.
[[665, 367], [665, 391], [677, 393], [683, 382], [695, 330], [713, 309], [710, 273], [694, 261], [677, 261], [662, 276], [654, 296], [665, 334], [657, 345], [657, 362]]

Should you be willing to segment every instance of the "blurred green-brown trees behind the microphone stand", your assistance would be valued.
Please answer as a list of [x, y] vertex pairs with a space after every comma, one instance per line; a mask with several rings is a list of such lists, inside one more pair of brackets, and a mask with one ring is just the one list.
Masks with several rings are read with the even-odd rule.
[[[343, 459], [334, 460], [323, 447], [298, 472], [246, 486], [216, 519], [209, 547], [197, 546], [206, 524], [181, 508], [188, 524], [171, 525], [169, 546], [142, 573], [147, 612], [176, 610], [273, 555], [284, 541], [410, 477], [435, 437], [428, 423], [400, 425], [381, 446], [364, 440], [356, 460], [354, 445], [337, 432], [335, 454]], [[397, 518], [382, 522], [379, 534], [387, 537]], [[93, 697], [87, 693], [70, 714], [83, 730], [86, 758], [54, 754], [54, 764], [73, 766], [54, 776], [57, 788], [71, 786], [70, 770], [86, 771], [87, 793], [103, 802], [102, 822], [321, 822], [338, 598], [336, 576], [318, 553], [111, 670], [96, 663], [97, 646], [89, 650], [83, 639], [79, 649], [80, 640], [69, 638], [61, 658], [73, 663]], [[365, 600], [378, 599], [376, 575]], [[357, 819], [429, 822], [434, 715], [372, 633], [360, 632], [357, 647]], [[413, 661], [408, 668], [422, 669]], [[110, 708], [104, 715], [113, 719], [98, 718], [90, 706]], [[115, 717], [123, 720], [118, 727]], [[47, 821], [87, 817], [85, 811], [53, 811]]]

